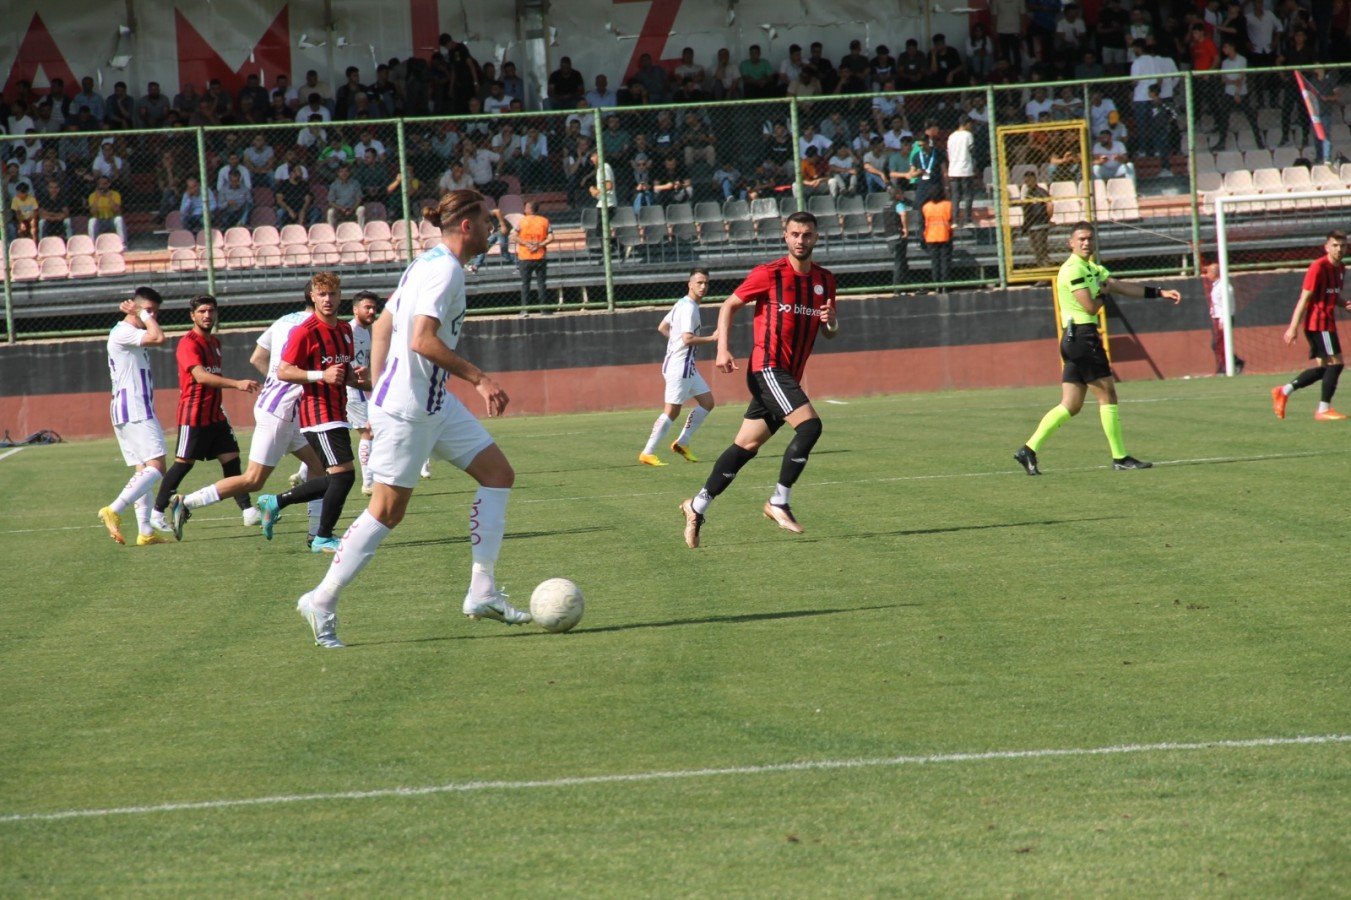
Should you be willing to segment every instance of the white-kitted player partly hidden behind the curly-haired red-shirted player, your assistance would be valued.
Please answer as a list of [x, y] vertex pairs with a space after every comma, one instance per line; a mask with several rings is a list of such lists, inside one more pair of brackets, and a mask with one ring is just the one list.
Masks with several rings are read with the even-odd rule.
[[[305, 307], [281, 316], [267, 330], [258, 335], [257, 346], [249, 362], [266, 376], [262, 391], [254, 401], [254, 432], [249, 442], [249, 468], [243, 474], [231, 478], [222, 478], [200, 491], [195, 491], [182, 499], [182, 508], [190, 516], [193, 509], [209, 507], [222, 500], [243, 496], [254, 491], [262, 491], [267, 484], [267, 476], [277, 468], [281, 458], [288, 453], [299, 458], [313, 472], [319, 472], [322, 464], [319, 454], [311, 449], [304, 435], [300, 434], [300, 423], [296, 414], [296, 400], [300, 397], [300, 385], [277, 380], [277, 368], [281, 365], [281, 349], [286, 346], [286, 338], [296, 326], [309, 318], [315, 308], [311, 299], [312, 284], [305, 285]], [[317, 531], [322, 515], [322, 500], [309, 504], [309, 528]], [[311, 534], [311, 541], [313, 534]]]

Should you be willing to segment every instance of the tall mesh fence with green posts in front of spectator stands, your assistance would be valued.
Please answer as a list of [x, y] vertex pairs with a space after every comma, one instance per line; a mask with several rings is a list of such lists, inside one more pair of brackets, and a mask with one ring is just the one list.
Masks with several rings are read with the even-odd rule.
[[[1274, 266], [1344, 218], [1342, 197], [1279, 195], [1351, 186], [1347, 72], [1304, 70], [1328, 141], [1279, 69], [453, 119], [332, 122], [320, 107], [286, 124], [0, 136], [4, 336], [101, 331], [138, 284], [215, 293], [226, 324], [270, 320], [319, 268], [389, 291], [436, 239], [423, 204], [470, 185], [501, 216], [473, 266], [476, 312], [666, 300], [694, 262], [730, 289], [781, 251], [797, 209], [817, 215], [819, 258], [846, 293], [1044, 278], [1079, 219], [1100, 223], [1116, 272], [1194, 274], [1213, 255], [1219, 192], [1271, 195], [1239, 211], [1231, 242], [1235, 268]], [[1067, 128], [1086, 150], [1061, 146]], [[547, 285], [528, 295], [515, 265], [526, 201], [555, 234]], [[170, 326], [188, 324], [182, 305]]]

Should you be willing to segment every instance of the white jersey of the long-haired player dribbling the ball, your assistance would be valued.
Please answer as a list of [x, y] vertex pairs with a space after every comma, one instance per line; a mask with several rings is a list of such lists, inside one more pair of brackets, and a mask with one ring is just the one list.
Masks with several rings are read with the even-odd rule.
[[465, 268], [450, 249], [439, 243], [413, 259], [399, 280], [399, 288], [385, 312], [393, 316], [389, 354], [374, 388], [374, 404], [403, 419], [424, 419], [440, 412], [446, 403], [446, 373], [408, 346], [413, 320], [431, 316], [440, 322], [436, 338], [451, 350], [459, 345], [465, 324]]

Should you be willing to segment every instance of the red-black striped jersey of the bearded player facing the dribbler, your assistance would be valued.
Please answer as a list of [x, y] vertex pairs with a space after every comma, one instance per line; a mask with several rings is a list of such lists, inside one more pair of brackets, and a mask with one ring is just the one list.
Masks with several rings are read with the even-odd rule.
[[780, 369], [801, 381], [821, 327], [821, 311], [835, 303], [835, 276], [816, 264], [798, 274], [784, 257], [751, 269], [734, 293], [755, 304], [750, 370]]

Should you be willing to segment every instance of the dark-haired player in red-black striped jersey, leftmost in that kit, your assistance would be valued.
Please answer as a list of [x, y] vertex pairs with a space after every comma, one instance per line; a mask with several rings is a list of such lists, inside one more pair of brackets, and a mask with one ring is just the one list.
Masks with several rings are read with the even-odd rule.
[[[216, 459], [227, 477], [238, 476], [239, 442], [226, 418], [222, 392], [226, 388], [258, 393], [258, 382], [251, 378], [227, 378], [222, 372], [220, 339], [212, 334], [216, 327], [216, 299], [211, 295], [193, 297], [188, 308], [192, 331], [178, 341], [178, 449], [173, 465], [159, 482], [151, 524], [161, 531], [173, 531], [182, 539], [182, 523], [188, 509], [182, 505], [178, 485], [192, 472], [197, 459]], [[245, 514], [245, 524], [258, 524], [249, 496], [235, 497]], [[165, 511], [169, 520], [165, 520]]]

